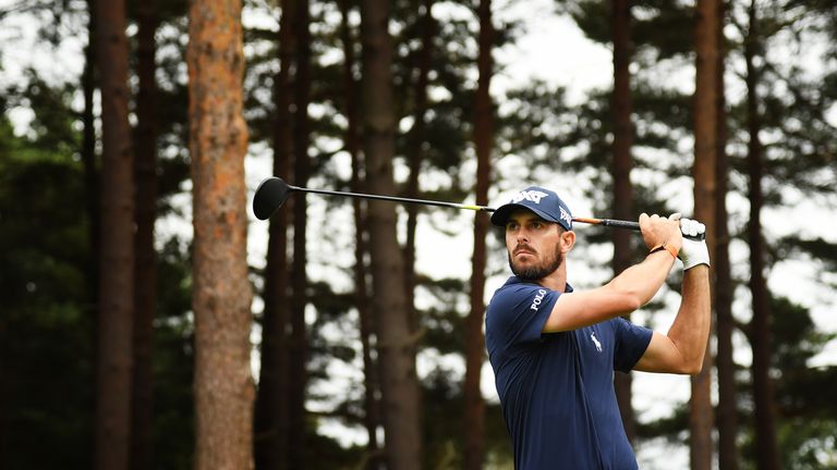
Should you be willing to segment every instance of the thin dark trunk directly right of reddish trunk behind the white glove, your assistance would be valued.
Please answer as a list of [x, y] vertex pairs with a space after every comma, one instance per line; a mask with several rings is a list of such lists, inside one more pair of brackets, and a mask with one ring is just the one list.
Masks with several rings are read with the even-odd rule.
[[736, 407], [736, 364], [732, 360], [732, 270], [729, 263], [729, 230], [727, 228], [727, 162], [726, 143], [726, 98], [724, 94], [724, 58], [726, 40], [724, 38], [725, 5], [718, 5], [718, 65], [716, 83], [717, 150], [715, 165], [715, 336], [717, 342], [716, 368], [718, 371], [718, 405], [716, 425], [718, 428], [718, 468], [738, 469], [738, 413]]

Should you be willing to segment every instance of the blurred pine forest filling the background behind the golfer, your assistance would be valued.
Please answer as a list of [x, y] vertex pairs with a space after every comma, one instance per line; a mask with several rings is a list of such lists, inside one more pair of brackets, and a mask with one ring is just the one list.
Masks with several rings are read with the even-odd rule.
[[[0, 3], [0, 468], [510, 468], [501, 237], [301, 195], [258, 222], [271, 174], [694, 214], [713, 357], [617, 375], [641, 467], [837, 468], [835, 32], [827, 1]], [[642, 258], [577, 231], [577, 288]], [[678, 275], [632, 321], [665, 331]]]

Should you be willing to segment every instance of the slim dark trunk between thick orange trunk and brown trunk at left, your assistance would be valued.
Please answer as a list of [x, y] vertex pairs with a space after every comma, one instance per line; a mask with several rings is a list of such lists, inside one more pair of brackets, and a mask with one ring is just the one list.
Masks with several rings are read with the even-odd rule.
[[154, 224], [157, 220], [157, 11], [154, 2], [140, 2], [137, 17], [135, 181], [136, 235], [134, 269], [134, 373], [132, 391], [131, 468], [150, 469], [151, 448], [151, 354], [157, 310], [157, 251]]

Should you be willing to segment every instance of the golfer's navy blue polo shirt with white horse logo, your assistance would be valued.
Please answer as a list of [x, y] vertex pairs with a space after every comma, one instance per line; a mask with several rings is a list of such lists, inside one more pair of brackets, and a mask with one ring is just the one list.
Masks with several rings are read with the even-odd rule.
[[[572, 287], [567, 285], [567, 292]], [[542, 333], [561, 293], [510, 277], [485, 317], [514, 468], [636, 469], [614, 392], [614, 371], [630, 371], [653, 332], [616, 318]]]

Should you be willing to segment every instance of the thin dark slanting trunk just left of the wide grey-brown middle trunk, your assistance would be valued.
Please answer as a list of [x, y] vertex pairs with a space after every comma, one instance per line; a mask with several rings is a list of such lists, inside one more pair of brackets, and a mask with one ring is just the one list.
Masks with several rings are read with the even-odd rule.
[[[352, 181], [351, 190], [354, 193], [363, 191], [363, 175], [361, 161], [361, 143], [357, 118], [357, 100], [355, 90], [359, 83], [354, 78], [355, 58], [354, 39], [352, 38], [351, 27], [349, 26], [349, 0], [340, 0], [341, 27], [340, 36], [343, 45], [343, 92], [345, 99], [345, 150], [352, 160]], [[368, 269], [366, 264], [366, 253], [368, 246], [366, 236], [368, 227], [366, 223], [365, 203], [361, 198], [352, 199], [352, 209], [354, 212], [354, 298], [355, 308], [360, 321], [360, 336], [363, 349], [363, 374], [364, 374], [364, 396], [363, 408], [365, 411], [363, 424], [366, 428], [366, 466], [367, 470], [380, 468], [380, 446], [378, 444], [378, 426], [380, 425], [379, 404], [375, 398], [378, 387], [377, 363], [372, 356], [371, 338], [374, 334], [374, 324], [372, 309], [369, 308], [368, 283], [366, 281]]]

